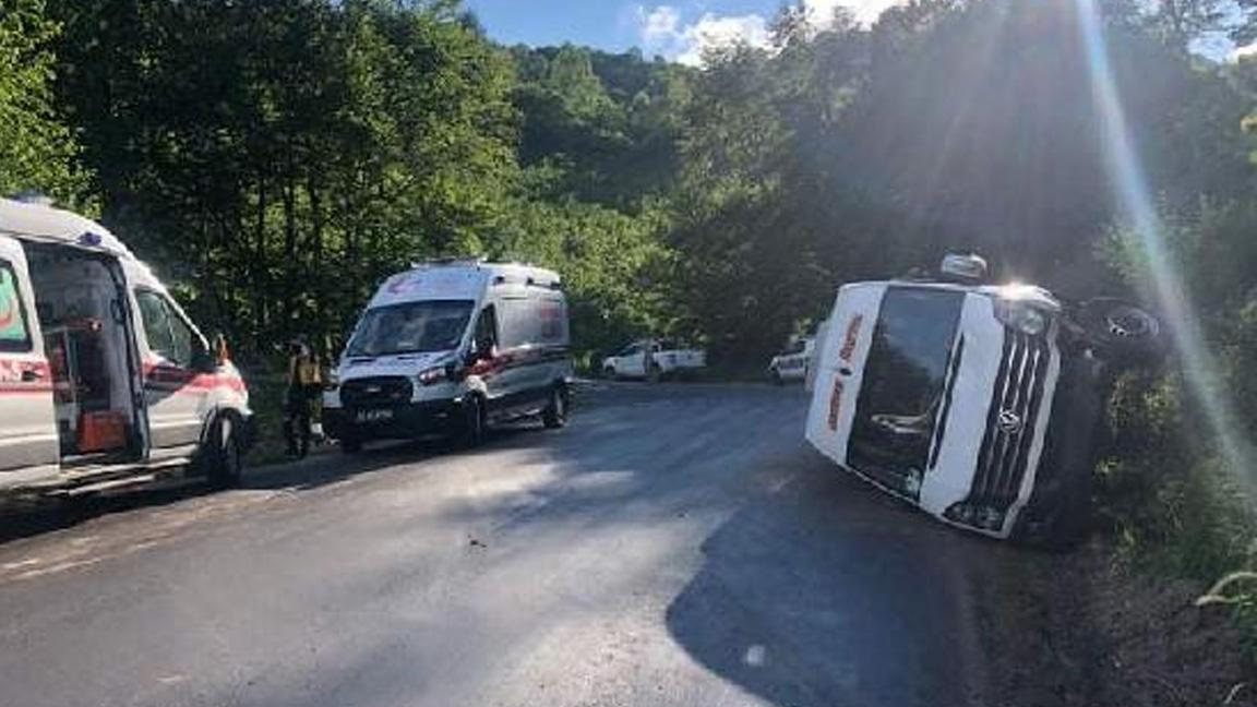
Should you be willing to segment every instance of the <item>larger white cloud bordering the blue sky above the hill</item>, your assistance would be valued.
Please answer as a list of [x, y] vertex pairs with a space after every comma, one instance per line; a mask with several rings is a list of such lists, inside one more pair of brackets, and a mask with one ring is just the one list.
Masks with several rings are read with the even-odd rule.
[[647, 11], [637, 9], [641, 40], [647, 52], [662, 54], [683, 64], [698, 65], [703, 52], [744, 42], [768, 47], [768, 20], [763, 15], [715, 15], [705, 13], [698, 21], [681, 24], [681, 13], [671, 5]]

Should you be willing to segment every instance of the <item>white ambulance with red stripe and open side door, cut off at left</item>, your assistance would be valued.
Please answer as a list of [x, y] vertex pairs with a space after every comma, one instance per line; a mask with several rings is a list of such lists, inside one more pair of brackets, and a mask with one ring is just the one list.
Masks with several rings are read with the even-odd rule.
[[240, 372], [99, 224], [0, 199], [0, 489], [240, 478]]

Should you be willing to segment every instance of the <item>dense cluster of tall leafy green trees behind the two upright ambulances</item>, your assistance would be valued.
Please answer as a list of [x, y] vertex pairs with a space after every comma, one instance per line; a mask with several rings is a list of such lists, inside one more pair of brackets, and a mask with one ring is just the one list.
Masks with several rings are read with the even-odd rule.
[[107, 223], [263, 351], [411, 259], [481, 249], [514, 179], [507, 58], [456, 5], [57, 4]]

